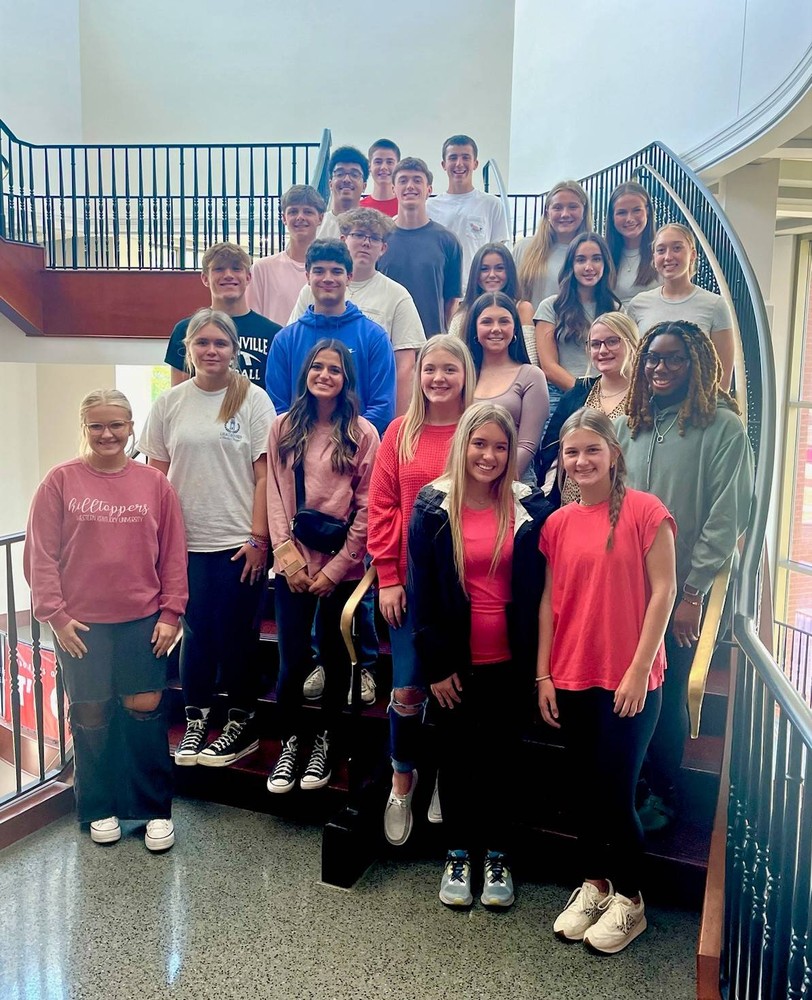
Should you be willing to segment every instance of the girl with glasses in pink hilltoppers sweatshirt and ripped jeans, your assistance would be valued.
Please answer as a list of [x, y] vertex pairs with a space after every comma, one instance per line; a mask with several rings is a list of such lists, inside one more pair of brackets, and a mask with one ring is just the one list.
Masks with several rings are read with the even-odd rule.
[[163, 851], [175, 842], [162, 698], [187, 599], [183, 517], [166, 478], [127, 456], [122, 393], [89, 393], [80, 421], [80, 457], [51, 469], [31, 504], [25, 575], [68, 694], [79, 822], [112, 844], [119, 817], [147, 819], [146, 846]]

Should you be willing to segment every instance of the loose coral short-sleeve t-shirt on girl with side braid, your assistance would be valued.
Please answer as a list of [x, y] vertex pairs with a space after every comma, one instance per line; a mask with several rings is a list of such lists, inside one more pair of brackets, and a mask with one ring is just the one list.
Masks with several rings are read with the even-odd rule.
[[[674, 519], [650, 493], [627, 490], [606, 551], [609, 503], [571, 503], [551, 514], [539, 548], [553, 574], [553, 648], [550, 673], [556, 687], [614, 691], [634, 658], [651, 588], [646, 555], [660, 525], [674, 535]], [[665, 649], [660, 645], [649, 690], [663, 682]]]

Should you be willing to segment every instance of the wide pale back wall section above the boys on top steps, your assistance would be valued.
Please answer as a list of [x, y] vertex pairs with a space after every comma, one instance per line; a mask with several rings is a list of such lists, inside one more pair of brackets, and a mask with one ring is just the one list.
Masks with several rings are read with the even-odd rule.
[[329, 127], [434, 166], [470, 131], [507, 158], [513, 0], [81, 0], [81, 38], [88, 142], [317, 141]]

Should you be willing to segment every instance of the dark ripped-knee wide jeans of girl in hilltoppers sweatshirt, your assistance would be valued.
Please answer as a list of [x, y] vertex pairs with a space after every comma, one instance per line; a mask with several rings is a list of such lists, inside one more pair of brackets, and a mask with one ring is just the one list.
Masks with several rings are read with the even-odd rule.
[[[152, 652], [157, 613], [115, 624], [87, 622], [87, 652], [74, 659], [57, 645], [73, 733], [76, 811], [80, 823], [107, 816], [169, 819], [172, 758], [165, 698], [152, 711], [122, 699], [166, 687], [166, 657]], [[56, 645], [56, 644], [55, 644]]]

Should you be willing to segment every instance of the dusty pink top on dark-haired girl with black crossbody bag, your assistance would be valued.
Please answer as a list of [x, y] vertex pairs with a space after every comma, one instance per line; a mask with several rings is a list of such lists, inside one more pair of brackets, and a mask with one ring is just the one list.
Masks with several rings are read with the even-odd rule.
[[[287, 416], [277, 417], [271, 424], [268, 438], [268, 527], [271, 546], [277, 548], [292, 538], [290, 522], [296, 513], [296, 485], [290, 457], [286, 465], [279, 460], [279, 436], [287, 424]], [[329, 428], [316, 428], [305, 452], [305, 506], [332, 514], [344, 520], [355, 511], [355, 520], [340, 552], [334, 556], [305, 548], [297, 539], [294, 544], [307, 562], [307, 575], [314, 577], [323, 570], [333, 583], [360, 580], [364, 575], [367, 551], [367, 497], [372, 465], [378, 451], [378, 432], [363, 417], [358, 418], [361, 431], [355, 472], [340, 476], [333, 471], [333, 443]], [[279, 567], [274, 563], [274, 569]]]

